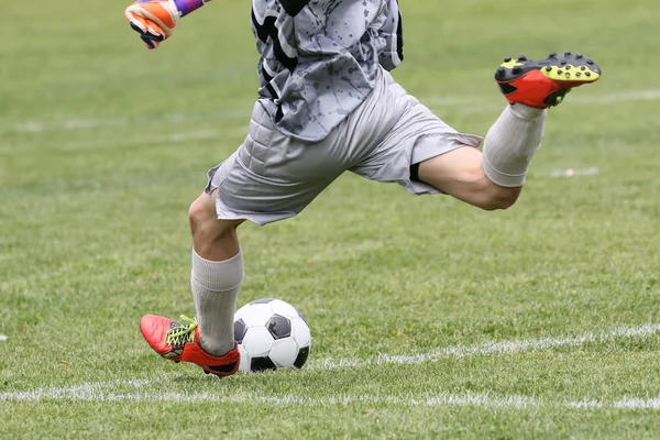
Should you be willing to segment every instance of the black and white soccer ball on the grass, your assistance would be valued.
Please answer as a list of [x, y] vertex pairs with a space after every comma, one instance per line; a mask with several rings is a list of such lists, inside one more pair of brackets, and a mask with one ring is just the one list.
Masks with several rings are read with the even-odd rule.
[[243, 372], [300, 369], [311, 345], [302, 315], [290, 304], [274, 298], [254, 300], [235, 312], [234, 339]]

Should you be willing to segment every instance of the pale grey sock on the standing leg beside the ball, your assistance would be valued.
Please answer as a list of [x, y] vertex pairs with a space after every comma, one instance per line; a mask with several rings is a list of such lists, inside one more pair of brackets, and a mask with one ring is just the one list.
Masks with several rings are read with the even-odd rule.
[[221, 356], [234, 346], [233, 316], [243, 282], [243, 255], [212, 262], [193, 250], [190, 287], [204, 351]]

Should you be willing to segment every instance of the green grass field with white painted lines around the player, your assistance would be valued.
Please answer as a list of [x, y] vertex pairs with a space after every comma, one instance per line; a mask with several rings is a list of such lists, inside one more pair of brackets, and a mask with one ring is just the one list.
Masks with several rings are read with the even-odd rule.
[[224, 380], [138, 321], [194, 312], [187, 208], [245, 134], [250, 7], [216, 0], [153, 53], [124, 7], [0, 18], [0, 438], [660, 438], [654, 0], [402, 1], [395, 77], [458, 130], [498, 117], [506, 55], [604, 77], [551, 111], [508, 211], [345, 175], [242, 227], [240, 302], [294, 304], [312, 352]]

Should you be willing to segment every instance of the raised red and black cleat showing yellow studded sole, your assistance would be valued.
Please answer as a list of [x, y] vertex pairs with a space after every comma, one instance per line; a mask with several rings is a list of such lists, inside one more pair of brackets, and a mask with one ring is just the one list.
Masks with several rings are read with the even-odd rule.
[[597, 81], [601, 68], [582, 54], [551, 53], [546, 59], [525, 55], [505, 58], [495, 72], [495, 80], [509, 103], [544, 109], [558, 106], [572, 88]]

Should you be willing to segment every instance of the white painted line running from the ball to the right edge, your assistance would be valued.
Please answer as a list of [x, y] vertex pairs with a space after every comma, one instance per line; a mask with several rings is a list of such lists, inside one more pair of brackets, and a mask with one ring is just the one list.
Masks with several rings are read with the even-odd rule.
[[660, 332], [660, 323], [640, 327], [618, 327], [600, 333], [586, 333], [573, 338], [542, 338], [519, 341], [486, 342], [480, 345], [440, 346], [437, 350], [419, 354], [380, 354], [372, 359], [340, 359], [310, 361], [309, 370], [336, 370], [348, 367], [364, 367], [384, 364], [421, 364], [450, 358], [471, 358], [480, 355], [501, 355], [519, 352], [535, 352], [576, 346], [588, 342], [605, 342], [615, 338], [642, 338]]

